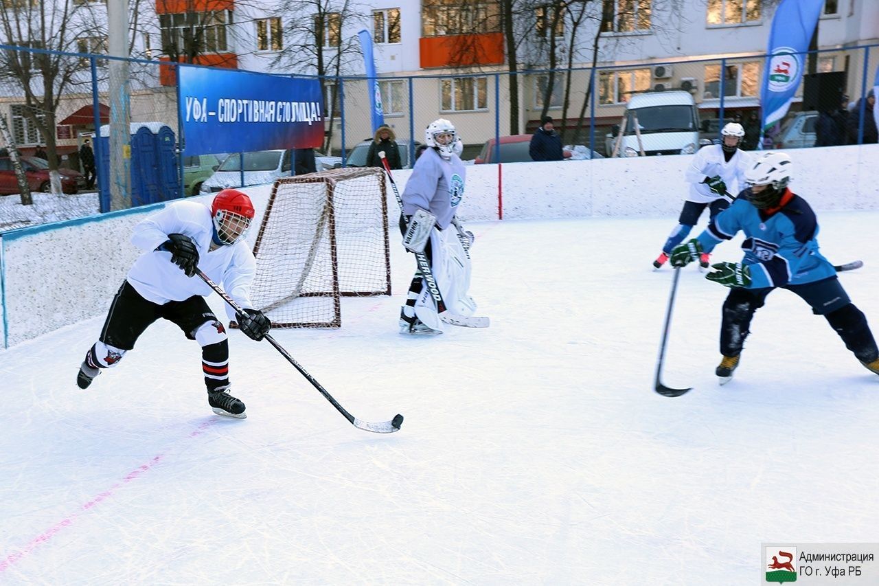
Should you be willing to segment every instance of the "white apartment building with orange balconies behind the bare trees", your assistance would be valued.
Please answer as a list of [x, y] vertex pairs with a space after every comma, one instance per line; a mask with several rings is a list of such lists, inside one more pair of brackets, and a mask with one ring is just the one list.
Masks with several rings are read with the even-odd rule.
[[[105, 4], [87, 4], [96, 22]], [[132, 22], [132, 56], [156, 62], [155, 71], [134, 88], [132, 115], [146, 121], [156, 113], [176, 128], [174, 75], [158, 62], [184, 60], [187, 46], [197, 48], [192, 62], [241, 70], [316, 74], [324, 71], [343, 79], [345, 146], [371, 134], [363, 60], [352, 42], [366, 29], [374, 40], [374, 62], [380, 80], [386, 121], [398, 135], [412, 134], [441, 116], [453, 119], [469, 143], [510, 134], [511, 77], [504, 22], [516, 31], [518, 132], [530, 131], [544, 103], [557, 121], [572, 127], [581, 111], [589, 121], [607, 125], [619, 119], [634, 92], [683, 88], [694, 94], [706, 117], [724, 107], [745, 112], [759, 106], [759, 86], [775, 3], [765, 0], [604, 0], [584, 3], [585, 13], [556, 12], [561, 3], [516, 3], [505, 17], [498, 0], [365, 0], [357, 11], [335, 11], [343, 3], [272, 0], [147, 0]], [[320, 11], [317, 11], [317, 7]], [[579, 18], [582, 16], [582, 18]], [[579, 18], [575, 22], [574, 18]], [[99, 26], [98, 26], [99, 28]], [[105, 50], [105, 35], [94, 29], [68, 50]], [[599, 40], [595, 44], [597, 34]], [[11, 40], [7, 40], [10, 42]], [[879, 41], [879, 3], [867, 0], [825, 0], [818, 25], [821, 51], [810, 64], [815, 71], [846, 71], [851, 95], [858, 95], [865, 75], [879, 62], [872, 53], [850, 48]], [[585, 104], [590, 89], [593, 44], [597, 48], [597, 99]], [[318, 47], [320, 46], [320, 47]], [[319, 48], [319, 50], [318, 50]], [[318, 57], [318, 55], [320, 55]], [[547, 92], [550, 66], [567, 70], [554, 75]], [[149, 70], [143, 65], [141, 70]], [[869, 73], [865, 73], [869, 71]], [[328, 82], [328, 95], [339, 84]], [[567, 88], [567, 89], [566, 89]], [[102, 88], [103, 91], [103, 88]], [[802, 89], [801, 89], [802, 93]], [[134, 94], [137, 94], [134, 96]], [[163, 97], [157, 98], [160, 95]], [[565, 105], [565, 98], [568, 103]], [[56, 119], [60, 144], [70, 144], [90, 129], [81, 122], [91, 116], [91, 99], [71, 96]], [[83, 99], [89, 102], [83, 106]], [[77, 101], [78, 100], [78, 101]], [[15, 97], [4, 99], [11, 127], [22, 144], [40, 143], [28, 128]], [[73, 107], [79, 104], [81, 107]], [[101, 100], [101, 105], [105, 99]], [[169, 106], [170, 104], [170, 106]], [[585, 107], [584, 107], [585, 104]], [[336, 114], [343, 104], [336, 101]], [[73, 116], [73, 118], [71, 118]], [[333, 146], [341, 146], [340, 121], [335, 121]], [[69, 127], [69, 128], [61, 128]]]

